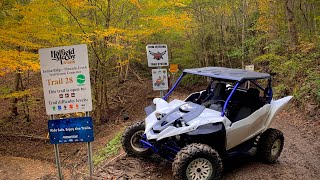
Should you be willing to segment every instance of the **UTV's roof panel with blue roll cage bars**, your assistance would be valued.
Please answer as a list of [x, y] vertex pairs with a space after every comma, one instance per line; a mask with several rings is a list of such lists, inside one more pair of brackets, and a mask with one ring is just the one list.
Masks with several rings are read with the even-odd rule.
[[[261, 89], [266, 96], [267, 103], [270, 103], [272, 100], [273, 91], [271, 86], [270, 74], [248, 71], [243, 69], [231, 69], [231, 68], [225, 68], [225, 67], [203, 67], [203, 68], [185, 69], [180, 75], [180, 77], [177, 79], [175, 84], [172, 86], [172, 88], [169, 90], [169, 92], [163, 97], [164, 100], [167, 100], [170, 94], [176, 89], [176, 87], [178, 86], [182, 78], [187, 74], [211, 77], [215, 80], [222, 80], [222, 81], [235, 83], [231, 93], [229, 94], [229, 96], [227, 97], [223, 105], [223, 108], [221, 111], [222, 117], [225, 115], [226, 109], [228, 107], [228, 102], [231, 100], [236, 89], [238, 89], [238, 87], [240, 87], [240, 85], [242, 85], [244, 82], [249, 81], [253, 83], [256, 87]], [[267, 86], [265, 88], [256, 82], [256, 80], [259, 80], [259, 79], [268, 80]]]

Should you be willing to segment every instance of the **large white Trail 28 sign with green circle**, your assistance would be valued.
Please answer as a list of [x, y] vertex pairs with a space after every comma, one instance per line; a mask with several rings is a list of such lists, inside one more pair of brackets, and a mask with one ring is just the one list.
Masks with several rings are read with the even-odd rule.
[[39, 50], [48, 115], [92, 110], [87, 45]]

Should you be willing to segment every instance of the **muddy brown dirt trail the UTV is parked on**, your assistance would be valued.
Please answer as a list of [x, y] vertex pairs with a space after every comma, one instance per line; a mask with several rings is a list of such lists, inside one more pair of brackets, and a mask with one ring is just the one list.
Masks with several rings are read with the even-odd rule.
[[[254, 157], [238, 157], [225, 164], [223, 179], [319, 179], [320, 122], [304, 120], [296, 112], [283, 112], [273, 127], [285, 135], [285, 146], [272, 165], [262, 164]], [[122, 157], [102, 164], [96, 175], [111, 179], [172, 179], [171, 163], [153, 157], [149, 161]]]

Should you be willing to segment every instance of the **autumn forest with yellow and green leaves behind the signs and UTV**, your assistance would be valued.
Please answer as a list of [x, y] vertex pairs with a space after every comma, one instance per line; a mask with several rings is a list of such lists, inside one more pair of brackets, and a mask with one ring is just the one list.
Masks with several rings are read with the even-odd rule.
[[83, 43], [96, 124], [136, 105], [130, 93], [141, 91], [130, 82], [151, 79], [145, 46], [153, 43], [167, 44], [179, 69], [254, 64], [276, 73], [276, 96], [319, 112], [318, 0], [2, 0], [0, 7], [2, 130], [45, 117], [38, 50]]

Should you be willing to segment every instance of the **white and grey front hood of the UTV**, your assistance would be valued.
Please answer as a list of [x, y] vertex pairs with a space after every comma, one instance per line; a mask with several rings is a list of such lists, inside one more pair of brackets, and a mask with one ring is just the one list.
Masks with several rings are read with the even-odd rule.
[[220, 112], [192, 102], [156, 98], [156, 110], [146, 118], [147, 139], [160, 140], [183, 133], [193, 133], [199, 126], [222, 122]]

